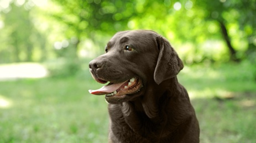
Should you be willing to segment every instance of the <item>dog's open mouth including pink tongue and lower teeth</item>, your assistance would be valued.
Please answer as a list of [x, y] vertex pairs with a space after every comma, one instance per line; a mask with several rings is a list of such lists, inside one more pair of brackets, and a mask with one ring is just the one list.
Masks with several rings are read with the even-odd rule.
[[122, 95], [129, 95], [139, 92], [143, 87], [142, 80], [139, 78], [132, 78], [123, 83], [109, 83], [98, 90], [89, 90], [90, 94], [106, 95], [106, 97], [122, 97]]

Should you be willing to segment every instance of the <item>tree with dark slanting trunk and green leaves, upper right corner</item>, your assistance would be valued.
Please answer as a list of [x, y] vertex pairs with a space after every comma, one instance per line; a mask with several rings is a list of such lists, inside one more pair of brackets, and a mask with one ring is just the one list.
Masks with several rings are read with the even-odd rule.
[[[227, 25], [230, 23], [237, 23], [243, 34], [246, 35], [248, 40], [248, 50], [255, 50], [255, 43], [250, 40], [255, 37], [256, 27], [256, 1], [195, 1], [196, 6], [201, 9], [205, 9], [207, 15], [206, 20], [217, 21], [220, 25], [223, 40], [226, 41], [231, 61], [239, 61], [240, 57], [237, 56], [237, 51], [232, 45], [232, 38], [229, 35]], [[253, 31], [253, 32], [247, 32]]]

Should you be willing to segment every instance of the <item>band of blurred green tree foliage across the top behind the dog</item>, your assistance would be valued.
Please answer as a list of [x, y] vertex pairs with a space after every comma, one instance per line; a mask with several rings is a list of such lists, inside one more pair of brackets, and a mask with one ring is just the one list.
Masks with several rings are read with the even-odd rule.
[[68, 41], [80, 56], [90, 49], [84, 41], [103, 47], [115, 32], [129, 29], [159, 32], [189, 64], [255, 56], [255, 1], [51, 0], [44, 7], [36, 7], [36, 1], [8, 3], [0, 12], [2, 62], [62, 57], [54, 50], [58, 41]]

